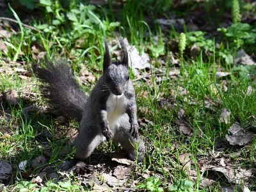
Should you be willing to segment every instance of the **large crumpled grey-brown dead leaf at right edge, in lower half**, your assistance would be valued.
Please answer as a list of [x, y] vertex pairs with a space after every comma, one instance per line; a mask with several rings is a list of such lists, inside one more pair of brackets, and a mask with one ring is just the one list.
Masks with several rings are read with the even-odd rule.
[[230, 145], [246, 145], [252, 141], [252, 134], [245, 133], [243, 128], [237, 123], [232, 124], [228, 132], [231, 133], [231, 135], [226, 135], [225, 137]]

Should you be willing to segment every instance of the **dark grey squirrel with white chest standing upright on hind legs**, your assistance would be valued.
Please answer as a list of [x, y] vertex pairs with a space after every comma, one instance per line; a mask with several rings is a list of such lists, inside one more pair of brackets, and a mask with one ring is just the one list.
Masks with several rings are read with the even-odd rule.
[[[42, 92], [54, 111], [68, 119], [79, 121], [79, 133], [72, 143], [75, 159], [84, 160], [95, 147], [112, 139], [127, 152], [129, 159], [143, 159], [145, 144], [138, 135], [136, 94], [129, 79], [128, 53], [119, 36], [122, 61], [114, 63], [104, 39], [103, 72], [87, 96], [77, 84], [67, 61], [45, 60], [44, 66], [33, 71], [46, 83]], [[138, 148], [137, 148], [138, 147]]]

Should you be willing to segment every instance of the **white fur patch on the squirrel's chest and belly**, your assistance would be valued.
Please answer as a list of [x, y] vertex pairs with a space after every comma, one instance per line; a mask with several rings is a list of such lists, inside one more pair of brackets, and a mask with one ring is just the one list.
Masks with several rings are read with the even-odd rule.
[[116, 96], [115, 94], [110, 94], [107, 100], [107, 112], [108, 112], [108, 122], [109, 127], [113, 128], [114, 126], [120, 124], [122, 115], [125, 114], [127, 108], [127, 99], [124, 94]]

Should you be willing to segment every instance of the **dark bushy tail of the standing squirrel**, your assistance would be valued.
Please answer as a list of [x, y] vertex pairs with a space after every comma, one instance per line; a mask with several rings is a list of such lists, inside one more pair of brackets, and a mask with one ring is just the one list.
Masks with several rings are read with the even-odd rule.
[[44, 61], [44, 68], [33, 66], [36, 77], [45, 85], [44, 96], [49, 99], [54, 112], [70, 119], [81, 120], [87, 96], [77, 84], [67, 61]]

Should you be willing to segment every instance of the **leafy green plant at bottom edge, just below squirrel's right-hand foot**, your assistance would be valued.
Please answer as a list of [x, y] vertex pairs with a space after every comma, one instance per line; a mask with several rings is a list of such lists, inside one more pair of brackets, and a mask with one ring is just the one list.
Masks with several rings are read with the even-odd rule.
[[144, 182], [140, 182], [137, 184], [138, 189], [147, 189], [148, 191], [152, 192], [161, 192], [164, 191], [163, 188], [159, 187], [162, 184], [160, 178], [149, 177]]

